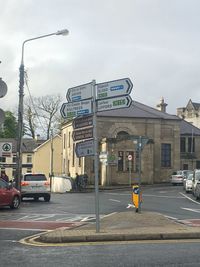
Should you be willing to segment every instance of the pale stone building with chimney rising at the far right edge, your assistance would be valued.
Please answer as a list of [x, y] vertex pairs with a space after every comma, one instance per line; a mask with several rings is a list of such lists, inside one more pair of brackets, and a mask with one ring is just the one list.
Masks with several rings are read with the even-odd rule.
[[194, 103], [190, 99], [183, 108], [177, 108], [177, 116], [200, 128], [200, 103]]

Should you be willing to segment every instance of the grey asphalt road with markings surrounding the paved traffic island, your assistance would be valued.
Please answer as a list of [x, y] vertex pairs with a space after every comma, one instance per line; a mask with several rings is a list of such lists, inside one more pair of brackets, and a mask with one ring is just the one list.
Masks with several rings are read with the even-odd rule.
[[[144, 186], [142, 191], [142, 211], [156, 211], [182, 222], [200, 218], [200, 202], [185, 194], [181, 186]], [[126, 210], [130, 208], [131, 190], [100, 192], [99, 203], [101, 216]], [[58, 223], [73, 228], [85, 222], [95, 222], [93, 192], [53, 194], [50, 203], [26, 200], [18, 210], [1, 208], [0, 266], [199, 266], [198, 240], [59, 247], [19, 242], [50, 226], [54, 229]]]

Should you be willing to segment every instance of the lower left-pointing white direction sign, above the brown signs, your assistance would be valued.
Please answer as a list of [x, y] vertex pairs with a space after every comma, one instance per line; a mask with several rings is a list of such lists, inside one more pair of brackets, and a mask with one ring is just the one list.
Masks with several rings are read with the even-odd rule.
[[83, 100], [78, 102], [63, 103], [60, 113], [64, 119], [75, 118], [80, 115], [89, 115], [92, 113], [92, 101]]

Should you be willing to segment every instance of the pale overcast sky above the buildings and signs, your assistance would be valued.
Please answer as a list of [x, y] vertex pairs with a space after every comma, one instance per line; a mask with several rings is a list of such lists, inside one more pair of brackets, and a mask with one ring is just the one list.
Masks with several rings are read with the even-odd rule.
[[[199, 0], [0, 0], [0, 77], [18, 105], [24, 40], [67, 28], [68, 36], [26, 43], [24, 65], [32, 96], [129, 77], [134, 100], [167, 112], [200, 102]], [[28, 95], [25, 87], [25, 96]]]

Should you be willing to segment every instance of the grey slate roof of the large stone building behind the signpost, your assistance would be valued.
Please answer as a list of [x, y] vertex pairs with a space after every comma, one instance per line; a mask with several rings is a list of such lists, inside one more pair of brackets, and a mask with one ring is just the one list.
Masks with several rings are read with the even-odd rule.
[[170, 115], [168, 113], [161, 112], [137, 101], [132, 101], [132, 104], [129, 108], [100, 111], [97, 112], [97, 116], [181, 120], [176, 115]]

